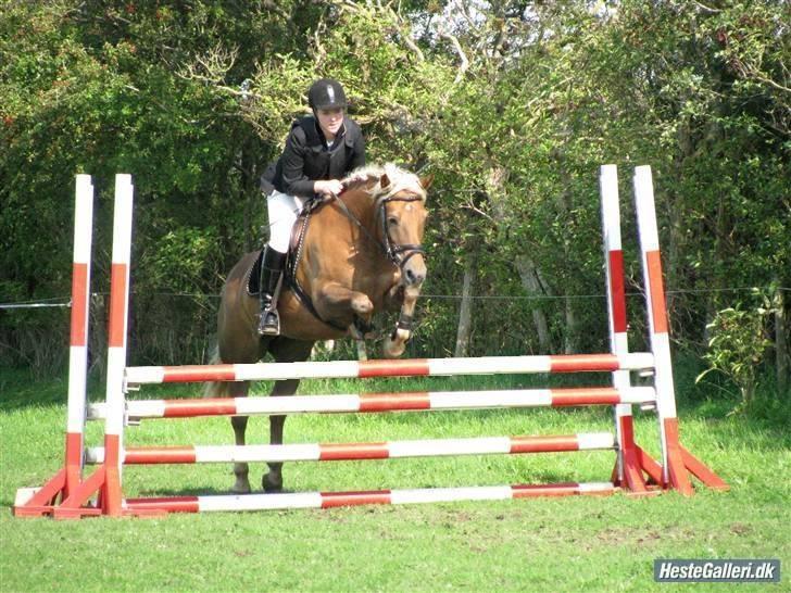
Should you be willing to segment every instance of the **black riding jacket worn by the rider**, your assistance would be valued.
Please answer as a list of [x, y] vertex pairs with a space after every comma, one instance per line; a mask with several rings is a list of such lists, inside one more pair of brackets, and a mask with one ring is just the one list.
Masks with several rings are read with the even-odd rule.
[[[327, 148], [318, 121], [309, 115], [291, 125], [286, 148], [277, 161], [275, 189], [289, 195], [313, 197], [313, 182], [319, 179], [342, 179], [365, 165], [365, 139], [360, 126], [343, 117], [343, 126]], [[266, 178], [267, 175], [264, 174]], [[267, 185], [262, 180], [262, 189]], [[268, 193], [268, 192], [267, 192]]]

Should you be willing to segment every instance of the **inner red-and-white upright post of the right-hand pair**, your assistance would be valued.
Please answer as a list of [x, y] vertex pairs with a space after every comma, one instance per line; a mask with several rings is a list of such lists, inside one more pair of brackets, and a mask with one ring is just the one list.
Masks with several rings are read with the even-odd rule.
[[[610, 350], [613, 354], [627, 354], [629, 352], [629, 340], [626, 317], [626, 282], [624, 279], [624, 251], [620, 240], [618, 168], [615, 165], [603, 165], [601, 167], [599, 188], [602, 200]], [[629, 371], [614, 370], [613, 387], [619, 390], [628, 390], [631, 387]], [[646, 494], [649, 490], [640, 471], [635, 445], [631, 404], [616, 404], [614, 415], [618, 438], [617, 483], [626, 483], [632, 492]]]

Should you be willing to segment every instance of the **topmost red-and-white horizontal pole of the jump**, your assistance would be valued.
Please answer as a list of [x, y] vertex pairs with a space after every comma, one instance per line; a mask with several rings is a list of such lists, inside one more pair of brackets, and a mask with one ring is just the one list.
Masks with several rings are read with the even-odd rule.
[[281, 379], [364, 379], [517, 373], [597, 373], [653, 368], [648, 352], [629, 354], [561, 354], [553, 356], [481, 356], [403, 361], [330, 361], [126, 368], [128, 384]]

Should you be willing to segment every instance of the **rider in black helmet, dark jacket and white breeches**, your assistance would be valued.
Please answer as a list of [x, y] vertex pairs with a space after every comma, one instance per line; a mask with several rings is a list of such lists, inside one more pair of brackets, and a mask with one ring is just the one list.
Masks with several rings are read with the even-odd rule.
[[[365, 140], [346, 109], [346, 92], [332, 78], [321, 78], [307, 90], [313, 115], [291, 125], [274, 178], [264, 174], [269, 188], [267, 211], [269, 242], [261, 262], [261, 317], [259, 333], [278, 336], [280, 319], [274, 295], [282, 276], [291, 227], [303, 204], [314, 195], [338, 194], [341, 179], [365, 164]], [[274, 185], [274, 189], [272, 186]]]

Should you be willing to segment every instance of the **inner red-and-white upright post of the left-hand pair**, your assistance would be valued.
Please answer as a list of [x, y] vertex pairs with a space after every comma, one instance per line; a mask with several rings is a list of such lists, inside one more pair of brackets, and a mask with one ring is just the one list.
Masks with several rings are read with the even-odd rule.
[[131, 176], [115, 176], [113, 217], [113, 258], [110, 276], [110, 323], [108, 327], [108, 416], [104, 428], [104, 483], [101, 489], [103, 513], [123, 514], [121, 491], [121, 447], [124, 433], [126, 367], [126, 324], [129, 311], [129, 257], [131, 251]]

